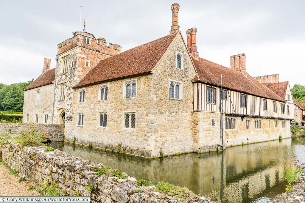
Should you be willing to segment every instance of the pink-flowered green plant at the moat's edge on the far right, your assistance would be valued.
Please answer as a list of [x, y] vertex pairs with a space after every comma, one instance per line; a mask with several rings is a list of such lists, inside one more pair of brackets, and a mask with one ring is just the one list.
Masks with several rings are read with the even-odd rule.
[[[297, 183], [302, 173], [302, 170], [298, 166], [297, 160], [294, 164], [291, 164], [288, 160], [285, 162], [284, 165], [284, 178], [288, 181], [290, 186], [293, 186]], [[291, 187], [286, 187], [286, 191], [290, 190]]]

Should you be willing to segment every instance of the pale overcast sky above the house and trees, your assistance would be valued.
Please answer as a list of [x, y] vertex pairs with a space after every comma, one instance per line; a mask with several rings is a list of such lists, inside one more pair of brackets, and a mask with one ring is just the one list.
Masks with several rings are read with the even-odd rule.
[[[173, 1], [0, 1], [0, 83], [36, 79], [43, 59], [55, 67], [57, 44], [79, 31], [81, 19], [95, 37], [122, 51], [169, 34]], [[229, 67], [245, 53], [247, 72], [280, 74], [305, 84], [305, 1], [180, 0], [179, 25], [197, 28], [199, 56]]]

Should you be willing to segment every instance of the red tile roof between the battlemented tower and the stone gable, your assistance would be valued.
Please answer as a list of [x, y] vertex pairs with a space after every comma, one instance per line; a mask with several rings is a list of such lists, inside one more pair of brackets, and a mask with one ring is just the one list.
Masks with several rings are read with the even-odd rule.
[[104, 59], [73, 88], [151, 72], [175, 37], [167, 35]]

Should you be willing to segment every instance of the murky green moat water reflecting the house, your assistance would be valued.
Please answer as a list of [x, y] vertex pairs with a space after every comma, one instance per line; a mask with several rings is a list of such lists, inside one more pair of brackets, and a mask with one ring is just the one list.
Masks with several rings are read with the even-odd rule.
[[305, 139], [262, 142], [224, 151], [144, 159], [52, 142], [51, 147], [122, 170], [137, 179], [166, 181], [221, 202], [266, 202], [285, 192], [285, 160], [305, 164]]

